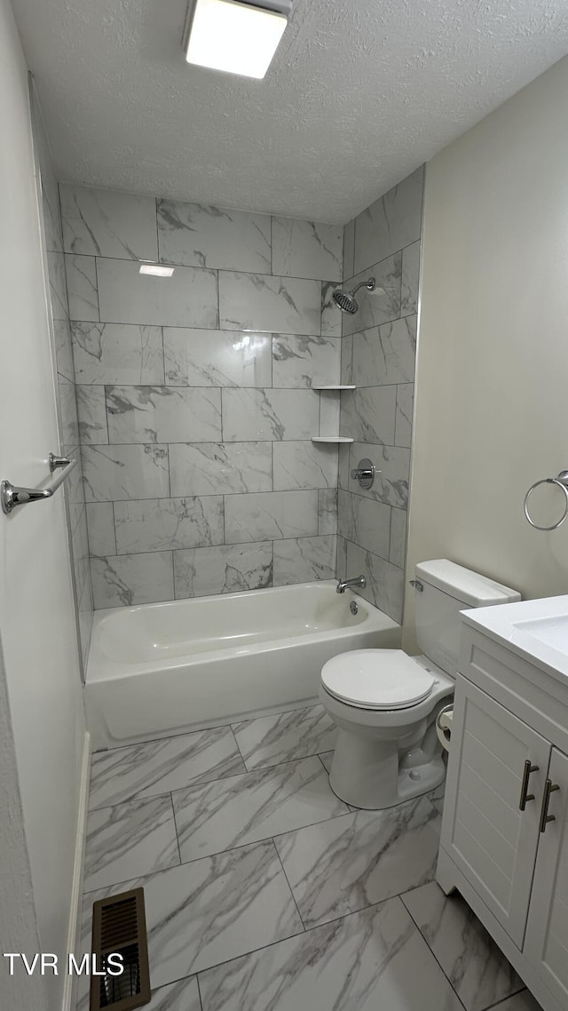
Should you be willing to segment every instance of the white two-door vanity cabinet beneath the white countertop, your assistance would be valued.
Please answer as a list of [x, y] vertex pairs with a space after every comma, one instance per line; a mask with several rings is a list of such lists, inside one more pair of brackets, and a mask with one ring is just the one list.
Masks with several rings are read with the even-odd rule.
[[568, 1008], [568, 683], [464, 626], [438, 880]]

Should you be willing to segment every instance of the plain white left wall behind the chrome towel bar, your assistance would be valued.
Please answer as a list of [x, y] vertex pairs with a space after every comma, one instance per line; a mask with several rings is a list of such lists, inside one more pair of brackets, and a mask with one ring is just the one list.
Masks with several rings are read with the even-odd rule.
[[[27, 69], [8, 0], [0, 0], [0, 476], [39, 486], [59, 439]], [[61, 494], [0, 514], [0, 635], [39, 941], [63, 952], [85, 729]], [[10, 852], [0, 860], [9, 872]], [[60, 977], [50, 986], [52, 1011], [63, 985]], [[3, 1007], [8, 987], [2, 978]]]

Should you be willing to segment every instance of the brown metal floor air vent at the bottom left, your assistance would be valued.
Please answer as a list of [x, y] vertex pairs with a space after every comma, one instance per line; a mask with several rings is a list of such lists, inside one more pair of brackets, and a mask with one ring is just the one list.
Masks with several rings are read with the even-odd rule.
[[[97, 969], [104, 976], [91, 977], [90, 1011], [130, 1011], [149, 1004], [150, 970], [144, 889], [132, 889], [93, 903], [93, 946]], [[120, 954], [124, 972], [115, 976], [109, 954]], [[119, 964], [119, 963], [118, 963]], [[110, 972], [112, 970], [112, 972]]]

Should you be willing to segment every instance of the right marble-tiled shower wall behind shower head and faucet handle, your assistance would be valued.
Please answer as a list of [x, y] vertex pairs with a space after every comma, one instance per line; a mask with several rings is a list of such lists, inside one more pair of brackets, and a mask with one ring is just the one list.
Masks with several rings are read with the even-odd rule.
[[[345, 227], [348, 288], [361, 289], [359, 312], [343, 317], [338, 575], [367, 576], [366, 595], [395, 621], [402, 617], [406, 518], [416, 351], [423, 169], [371, 204]], [[366, 491], [351, 477], [363, 457], [381, 471]]]

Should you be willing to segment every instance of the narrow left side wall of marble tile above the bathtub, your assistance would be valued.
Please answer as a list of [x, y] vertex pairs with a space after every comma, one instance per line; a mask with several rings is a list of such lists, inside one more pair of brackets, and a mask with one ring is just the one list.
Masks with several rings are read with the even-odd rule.
[[[58, 418], [60, 449], [62, 455], [77, 458], [79, 464], [71, 472], [63, 486], [68, 512], [68, 527], [71, 538], [71, 562], [75, 580], [75, 606], [77, 609], [80, 648], [83, 667], [87, 664], [87, 654], [93, 625], [93, 593], [87, 535], [87, 514], [83, 489], [81, 451], [79, 445], [79, 423], [73, 368], [73, 351], [69, 323], [69, 304], [65, 276], [65, 256], [63, 251], [63, 231], [58, 194], [58, 183], [52, 162], [50, 146], [43, 129], [41, 114], [32, 92], [31, 111], [33, 142], [39, 166], [39, 187], [45, 260], [50, 285], [50, 307], [53, 330], [53, 347], [58, 384]], [[45, 447], [57, 452], [57, 447]]]

